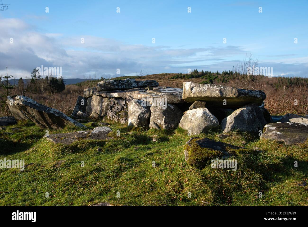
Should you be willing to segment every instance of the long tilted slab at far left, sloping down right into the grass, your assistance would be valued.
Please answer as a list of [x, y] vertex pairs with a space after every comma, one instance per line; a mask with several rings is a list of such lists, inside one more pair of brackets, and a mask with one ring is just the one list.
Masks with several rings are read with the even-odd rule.
[[14, 104], [23, 114], [37, 124], [40, 128], [62, 129], [68, 124], [77, 127], [85, 127], [83, 124], [67, 117], [65, 114], [57, 109], [39, 104], [33, 99], [26, 96], [17, 96]]

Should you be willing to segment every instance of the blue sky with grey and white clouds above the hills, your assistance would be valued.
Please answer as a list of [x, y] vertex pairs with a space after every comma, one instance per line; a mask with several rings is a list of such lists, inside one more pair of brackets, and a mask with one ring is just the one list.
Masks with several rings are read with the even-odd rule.
[[0, 75], [25, 79], [42, 65], [64, 78], [222, 72], [252, 55], [273, 76], [308, 77], [308, 1], [2, 3]]

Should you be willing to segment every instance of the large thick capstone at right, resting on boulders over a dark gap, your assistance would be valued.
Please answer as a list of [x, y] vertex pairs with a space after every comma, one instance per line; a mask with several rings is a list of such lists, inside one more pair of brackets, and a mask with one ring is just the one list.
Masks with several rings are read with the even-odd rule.
[[[214, 84], [183, 83], [183, 97], [187, 102], [206, 101], [207, 106], [237, 109], [249, 103], [262, 105], [266, 95], [261, 90], [246, 90]], [[225, 102], [226, 101], [226, 102]], [[224, 105], [226, 104], [226, 105]]]

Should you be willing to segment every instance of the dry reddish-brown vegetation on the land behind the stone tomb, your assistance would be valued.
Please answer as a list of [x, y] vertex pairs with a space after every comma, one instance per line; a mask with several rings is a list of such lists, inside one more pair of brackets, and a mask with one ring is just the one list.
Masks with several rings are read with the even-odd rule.
[[[164, 74], [152, 74], [142, 76], [138, 80], [153, 79], [157, 80], [160, 86], [169, 86], [173, 88], [182, 88], [184, 81], [193, 81], [201, 83], [204, 81], [202, 78], [190, 78], [190, 79], [170, 79], [170, 77], [176, 75], [175, 73]], [[70, 115], [77, 97], [83, 95], [83, 89], [89, 87], [95, 87], [99, 80], [85, 81], [79, 85], [67, 85], [66, 89], [61, 93], [43, 93], [43, 94], [31, 94], [25, 93], [24, 95], [33, 98], [35, 101], [47, 105], [49, 107], [59, 109], [63, 113]], [[215, 81], [213, 82], [215, 83]], [[283, 82], [284, 83], [284, 82]], [[287, 85], [278, 83], [278, 78], [260, 77], [249, 84], [249, 89], [259, 89], [266, 93], [265, 108], [269, 110], [272, 115], [283, 115], [286, 113], [294, 113], [298, 115], [308, 114], [308, 85]], [[279, 86], [277, 85], [279, 84]], [[227, 83], [221, 85], [233, 86], [241, 88], [241, 81], [230, 80]], [[13, 95], [18, 95], [18, 89], [13, 90]], [[1, 93], [1, 91], [0, 91]], [[297, 100], [297, 105], [296, 104]], [[2, 108], [0, 116], [10, 115], [8, 109]]]

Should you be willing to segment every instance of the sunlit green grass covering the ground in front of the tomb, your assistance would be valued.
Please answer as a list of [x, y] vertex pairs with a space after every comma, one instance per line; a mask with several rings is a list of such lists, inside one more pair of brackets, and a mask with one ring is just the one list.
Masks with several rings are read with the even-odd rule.
[[[21, 129], [12, 130], [16, 127]], [[194, 169], [184, 160], [190, 137], [183, 129], [145, 130], [116, 123], [110, 127], [112, 140], [67, 146], [47, 141], [45, 130], [32, 122], [7, 126], [0, 131], [0, 159], [25, 159], [26, 167], [0, 169], [0, 205], [308, 205], [308, 186], [299, 185], [307, 181], [308, 141], [285, 146], [249, 134], [233, 133], [226, 139], [217, 138], [217, 131], [200, 134], [261, 151], [236, 157], [237, 171], [210, 165]], [[152, 135], [157, 135], [156, 142]]]

